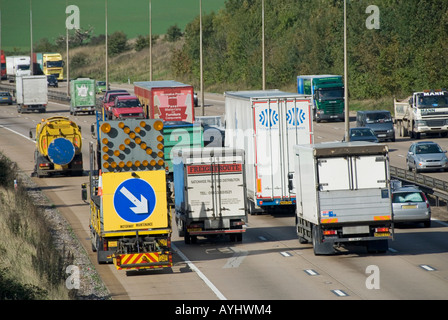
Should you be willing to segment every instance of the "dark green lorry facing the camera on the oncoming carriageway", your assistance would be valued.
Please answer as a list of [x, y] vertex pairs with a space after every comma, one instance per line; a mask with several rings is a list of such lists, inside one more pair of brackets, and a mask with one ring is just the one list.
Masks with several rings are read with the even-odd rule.
[[313, 99], [313, 119], [316, 122], [321, 120], [345, 120], [342, 76], [298, 76], [297, 92], [311, 95]]

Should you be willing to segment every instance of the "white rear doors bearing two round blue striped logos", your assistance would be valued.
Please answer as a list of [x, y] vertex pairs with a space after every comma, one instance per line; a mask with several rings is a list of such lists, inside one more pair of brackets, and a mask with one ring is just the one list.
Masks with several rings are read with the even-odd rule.
[[292, 204], [293, 146], [312, 142], [310, 101], [289, 98], [253, 101], [257, 198]]

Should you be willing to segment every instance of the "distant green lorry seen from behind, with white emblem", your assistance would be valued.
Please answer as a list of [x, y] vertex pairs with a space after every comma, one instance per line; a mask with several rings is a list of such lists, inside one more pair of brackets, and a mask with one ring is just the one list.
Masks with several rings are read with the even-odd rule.
[[95, 80], [78, 78], [70, 81], [70, 114], [94, 114], [96, 107]]

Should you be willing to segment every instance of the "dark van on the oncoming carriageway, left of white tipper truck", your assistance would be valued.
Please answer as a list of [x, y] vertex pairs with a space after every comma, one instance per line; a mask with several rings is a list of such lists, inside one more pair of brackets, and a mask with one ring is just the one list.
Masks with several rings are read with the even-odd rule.
[[395, 129], [390, 111], [358, 111], [356, 113], [356, 126], [372, 129], [379, 141], [395, 141]]

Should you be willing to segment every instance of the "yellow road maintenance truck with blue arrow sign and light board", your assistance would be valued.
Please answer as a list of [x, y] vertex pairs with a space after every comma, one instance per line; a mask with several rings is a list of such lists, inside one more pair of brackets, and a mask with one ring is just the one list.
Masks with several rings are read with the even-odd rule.
[[163, 122], [102, 120], [97, 113], [96, 126], [97, 141], [89, 146], [89, 186], [98, 262], [113, 262], [118, 270], [171, 267]]

